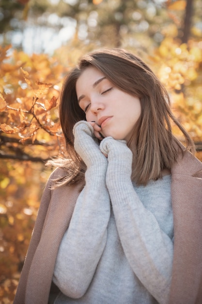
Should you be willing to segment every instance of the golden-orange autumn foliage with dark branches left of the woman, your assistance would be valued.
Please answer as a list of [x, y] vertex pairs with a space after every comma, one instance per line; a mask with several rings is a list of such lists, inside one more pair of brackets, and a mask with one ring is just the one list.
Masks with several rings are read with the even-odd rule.
[[[50, 157], [63, 155], [58, 117], [65, 66], [45, 54], [0, 48], [0, 299], [11, 303], [29, 245]], [[89, 47], [88, 47], [89, 48]], [[87, 51], [87, 50], [86, 50]], [[74, 59], [74, 61], [73, 61]]]

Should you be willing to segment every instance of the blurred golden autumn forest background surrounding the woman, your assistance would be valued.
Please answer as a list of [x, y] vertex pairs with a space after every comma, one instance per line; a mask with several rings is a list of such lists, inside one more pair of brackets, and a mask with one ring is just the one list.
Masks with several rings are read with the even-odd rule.
[[[12, 303], [50, 157], [63, 77], [88, 51], [140, 55], [202, 160], [201, 0], [0, 0], [0, 303]], [[181, 138], [181, 134], [174, 130]]]

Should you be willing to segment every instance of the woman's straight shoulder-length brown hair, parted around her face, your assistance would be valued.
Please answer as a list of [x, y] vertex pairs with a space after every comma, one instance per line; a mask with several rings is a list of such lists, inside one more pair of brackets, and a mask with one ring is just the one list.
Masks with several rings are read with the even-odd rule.
[[74, 150], [73, 127], [85, 120], [78, 105], [76, 82], [83, 70], [93, 66], [100, 70], [119, 89], [140, 99], [141, 115], [128, 143], [134, 155], [132, 180], [146, 185], [150, 179], [162, 176], [171, 169], [182, 146], [171, 131], [171, 120], [183, 133], [186, 149], [194, 152], [194, 144], [186, 130], [171, 112], [171, 101], [165, 87], [153, 71], [136, 55], [122, 49], [104, 49], [84, 55], [76, 68], [64, 79], [60, 102], [60, 120], [66, 145], [66, 159], [55, 164], [67, 170], [60, 181], [75, 183], [84, 178], [85, 164]]

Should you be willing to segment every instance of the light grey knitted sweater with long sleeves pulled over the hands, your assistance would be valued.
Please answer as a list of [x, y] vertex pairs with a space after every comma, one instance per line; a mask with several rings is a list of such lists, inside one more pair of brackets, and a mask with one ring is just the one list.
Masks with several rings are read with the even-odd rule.
[[[79, 122], [75, 149], [87, 165], [69, 228], [62, 238], [55, 304], [168, 303], [173, 254], [171, 176], [147, 186], [131, 182], [124, 141], [94, 142]], [[106, 158], [103, 153], [108, 156]]]

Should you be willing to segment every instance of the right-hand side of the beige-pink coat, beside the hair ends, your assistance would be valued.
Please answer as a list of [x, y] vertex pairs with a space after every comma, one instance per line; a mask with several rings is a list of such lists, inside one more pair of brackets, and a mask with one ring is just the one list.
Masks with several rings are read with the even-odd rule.
[[197, 300], [202, 290], [202, 163], [186, 152], [171, 174], [174, 253], [170, 303], [202, 303], [202, 298]]

